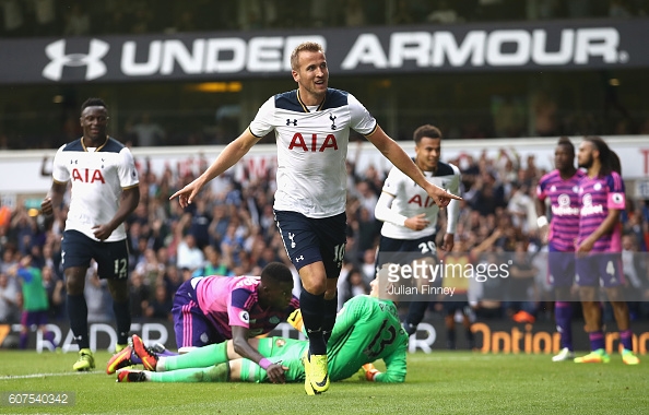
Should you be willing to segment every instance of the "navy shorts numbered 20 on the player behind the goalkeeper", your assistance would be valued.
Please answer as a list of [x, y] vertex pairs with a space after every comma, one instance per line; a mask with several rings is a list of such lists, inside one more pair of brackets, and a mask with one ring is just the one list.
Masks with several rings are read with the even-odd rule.
[[418, 239], [394, 239], [381, 235], [375, 265], [380, 270], [386, 263], [406, 265], [422, 258], [437, 259], [435, 234]]

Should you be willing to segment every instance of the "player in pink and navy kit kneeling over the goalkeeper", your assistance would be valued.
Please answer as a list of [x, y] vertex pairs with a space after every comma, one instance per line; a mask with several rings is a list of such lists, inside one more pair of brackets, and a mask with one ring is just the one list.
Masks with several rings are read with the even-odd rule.
[[[185, 282], [172, 310], [179, 351], [231, 340], [238, 355], [261, 365], [273, 381], [283, 380], [282, 367], [264, 359], [248, 339], [269, 333], [299, 307], [292, 290], [293, 274], [280, 262], [266, 265], [259, 278], [211, 275]], [[108, 360], [106, 372], [139, 363], [129, 345]]]

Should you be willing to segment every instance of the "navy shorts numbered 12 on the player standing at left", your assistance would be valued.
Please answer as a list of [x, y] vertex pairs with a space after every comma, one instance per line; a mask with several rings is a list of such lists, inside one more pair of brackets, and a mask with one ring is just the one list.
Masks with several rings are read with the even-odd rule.
[[102, 242], [76, 230], [66, 230], [61, 242], [63, 270], [73, 266], [88, 268], [97, 262], [99, 278], [122, 280], [129, 275], [129, 247], [127, 240]]

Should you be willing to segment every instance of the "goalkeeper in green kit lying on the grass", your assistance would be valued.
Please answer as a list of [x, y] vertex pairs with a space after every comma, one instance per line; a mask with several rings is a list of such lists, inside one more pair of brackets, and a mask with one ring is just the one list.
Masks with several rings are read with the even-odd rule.
[[[380, 273], [379, 273], [380, 275]], [[386, 293], [385, 284], [380, 289]], [[381, 297], [385, 297], [382, 295]], [[302, 329], [296, 310], [288, 322]], [[179, 356], [157, 356], [132, 336], [134, 353], [146, 370], [120, 369], [119, 382], [267, 382], [266, 371], [251, 360], [234, 352], [232, 341], [212, 344]], [[284, 366], [285, 382], [302, 382], [309, 343], [286, 337], [250, 339], [250, 344], [272, 363]], [[379, 298], [378, 278], [371, 282], [371, 293], [347, 300], [338, 313], [327, 345], [329, 376], [332, 381], [354, 376], [361, 368], [365, 378], [376, 382], [403, 382], [408, 334], [401, 328], [397, 307], [389, 299]], [[380, 372], [373, 361], [382, 359], [386, 371]], [[307, 394], [315, 394], [305, 386]]]

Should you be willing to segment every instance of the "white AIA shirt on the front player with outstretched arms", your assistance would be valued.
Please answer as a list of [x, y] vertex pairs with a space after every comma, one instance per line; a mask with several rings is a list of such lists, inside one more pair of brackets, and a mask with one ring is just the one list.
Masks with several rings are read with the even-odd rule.
[[328, 88], [322, 104], [306, 106], [297, 90], [270, 97], [250, 123], [264, 137], [275, 131], [278, 190], [274, 210], [311, 218], [345, 211], [350, 129], [369, 135], [377, 122], [352, 94]]

